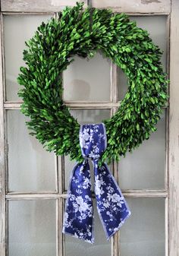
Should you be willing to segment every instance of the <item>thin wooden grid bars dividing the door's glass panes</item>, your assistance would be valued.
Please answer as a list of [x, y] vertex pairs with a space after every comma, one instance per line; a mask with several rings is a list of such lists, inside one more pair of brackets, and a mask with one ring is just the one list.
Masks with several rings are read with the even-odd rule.
[[[169, 26], [169, 24], [168, 24]], [[169, 33], [169, 32], [168, 32]], [[3, 50], [2, 50], [3, 52]], [[3, 52], [4, 55], [4, 52]], [[4, 70], [4, 81], [3, 84], [5, 84], [5, 70]], [[5, 88], [4, 88], [5, 92]], [[2, 95], [5, 93], [2, 93]], [[120, 103], [118, 103], [118, 70], [115, 65], [111, 65], [111, 102], [109, 103], [70, 103], [68, 102], [67, 105], [69, 107], [74, 107], [77, 109], [90, 109], [90, 108], [108, 108], [111, 109], [111, 115], [114, 115], [115, 112], [118, 110], [118, 106]], [[168, 112], [168, 106], [165, 106]], [[4, 103], [4, 109], [20, 109], [20, 102], [5, 102]], [[168, 115], [167, 115], [167, 138], [166, 138], [166, 145], [168, 144]], [[167, 146], [168, 147], [168, 146]], [[168, 151], [168, 149], [167, 149]], [[7, 153], [7, 150], [6, 150]], [[166, 152], [166, 159], [168, 159], [168, 153]], [[56, 199], [56, 214], [57, 214], [57, 256], [64, 255], [64, 238], [61, 235], [61, 225], [62, 225], [62, 216], [63, 216], [63, 208], [64, 208], [64, 198], [66, 198], [67, 194], [64, 193], [64, 157], [56, 157], [56, 186], [58, 188], [57, 193], [8, 193], [6, 192], [5, 198], [7, 201], [9, 200], [34, 200], [34, 199]], [[7, 170], [7, 167], [6, 167]], [[113, 163], [113, 170], [115, 179], [118, 180], [118, 166], [116, 163]], [[8, 178], [8, 172], [6, 172], [6, 178]], [[165, 180], [165, 190], [155, 190], [155, 191], [146, 191], [146, 190], [139, 190], [139, 191], [124, 191], [124, 195], [128, 198], [150, 198], [150, 197], [164, 197], [166, 198], [166, 206], [165, 206], [165, 214], [166, 214], [166, 221], [168, 219], [168, 161], [166, 162], [166, 174], [165, 174], [166, 180]], [[5, 188], [8, 188], [7, 185]], [[8, 208], [8, 203], [6, 204], [6, 209]], [[8, 226], [8, 210], [6, 210], [6, 224]], [[5, 217], [5, 216], [4, 216]], [[168, 225], [166, 225], [166, 229]], [[8, 230], [8, 229], [7, 229]], [[168, 230], [166, 232], [166, 237], [168, 236]], [[120, 233], [115, 235], [115, 238], [111, 241], [111, 255], [117, 256], [120, 254], [119, 248], [119, 238]], [[6, 239], [8, 239], [8, 232], [6, 232]], [[7, 240], [8, 241], [8, 240]], [[168, 243], [166, 243], [168, 244]], [[167, 246], [167, 245], [166, 245]], [[61, 249], [62, 248], [62, 249]], [[8, 251], [7, 251], [8, 253]], [[168, 250], [166, 250], [166, 255], [168, 255]]]

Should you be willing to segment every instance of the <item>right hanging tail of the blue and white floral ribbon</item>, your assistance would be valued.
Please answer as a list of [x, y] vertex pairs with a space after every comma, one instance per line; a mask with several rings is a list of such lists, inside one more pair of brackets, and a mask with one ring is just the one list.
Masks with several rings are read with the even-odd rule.
[[107, 239], [114, 235], [130, 216], [130, 210], [107, 164], [94, 160], [97, 209]]

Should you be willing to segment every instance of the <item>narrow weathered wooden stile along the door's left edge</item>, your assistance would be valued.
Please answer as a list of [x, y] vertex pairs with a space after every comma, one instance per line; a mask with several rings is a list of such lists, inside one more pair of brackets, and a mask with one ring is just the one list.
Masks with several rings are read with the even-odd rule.
[[2, 71], [2, 14], [0, 17], [0, 255], [5, 256], [5, 128]]

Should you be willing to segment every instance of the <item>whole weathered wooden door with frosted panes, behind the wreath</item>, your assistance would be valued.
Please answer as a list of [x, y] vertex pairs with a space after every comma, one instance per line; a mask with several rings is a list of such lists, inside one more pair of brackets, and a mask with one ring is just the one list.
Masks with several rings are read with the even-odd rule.
[[[20, 114], [17, 74], [24, 41], [36, 27], [76, 1], [2, 0], [0, 51], [0, 255], [178, 256], [179, 230], [179, 2], [91, 0], [85, 6], [126, 12], [164, 51], [170, 100], [158, 131], [111, 169], [132, 211], [106, 242], [95, 212], [95, 245], [62, 235], [68, 180], [74, 163], [47, 153], [30, 137]], [[64, 101], [81, 123], [100, 122], [117, 111], [127, 91], [120, 68], [100, 52], [89, 62], [75, 58], [64, 72]]]

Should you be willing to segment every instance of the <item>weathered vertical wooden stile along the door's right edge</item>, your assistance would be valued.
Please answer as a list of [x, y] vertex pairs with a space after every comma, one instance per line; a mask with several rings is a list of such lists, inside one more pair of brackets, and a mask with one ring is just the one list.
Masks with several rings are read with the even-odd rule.
[[169, 106], [169, 256], [179, 255], [179, 1], [171, 1]]

